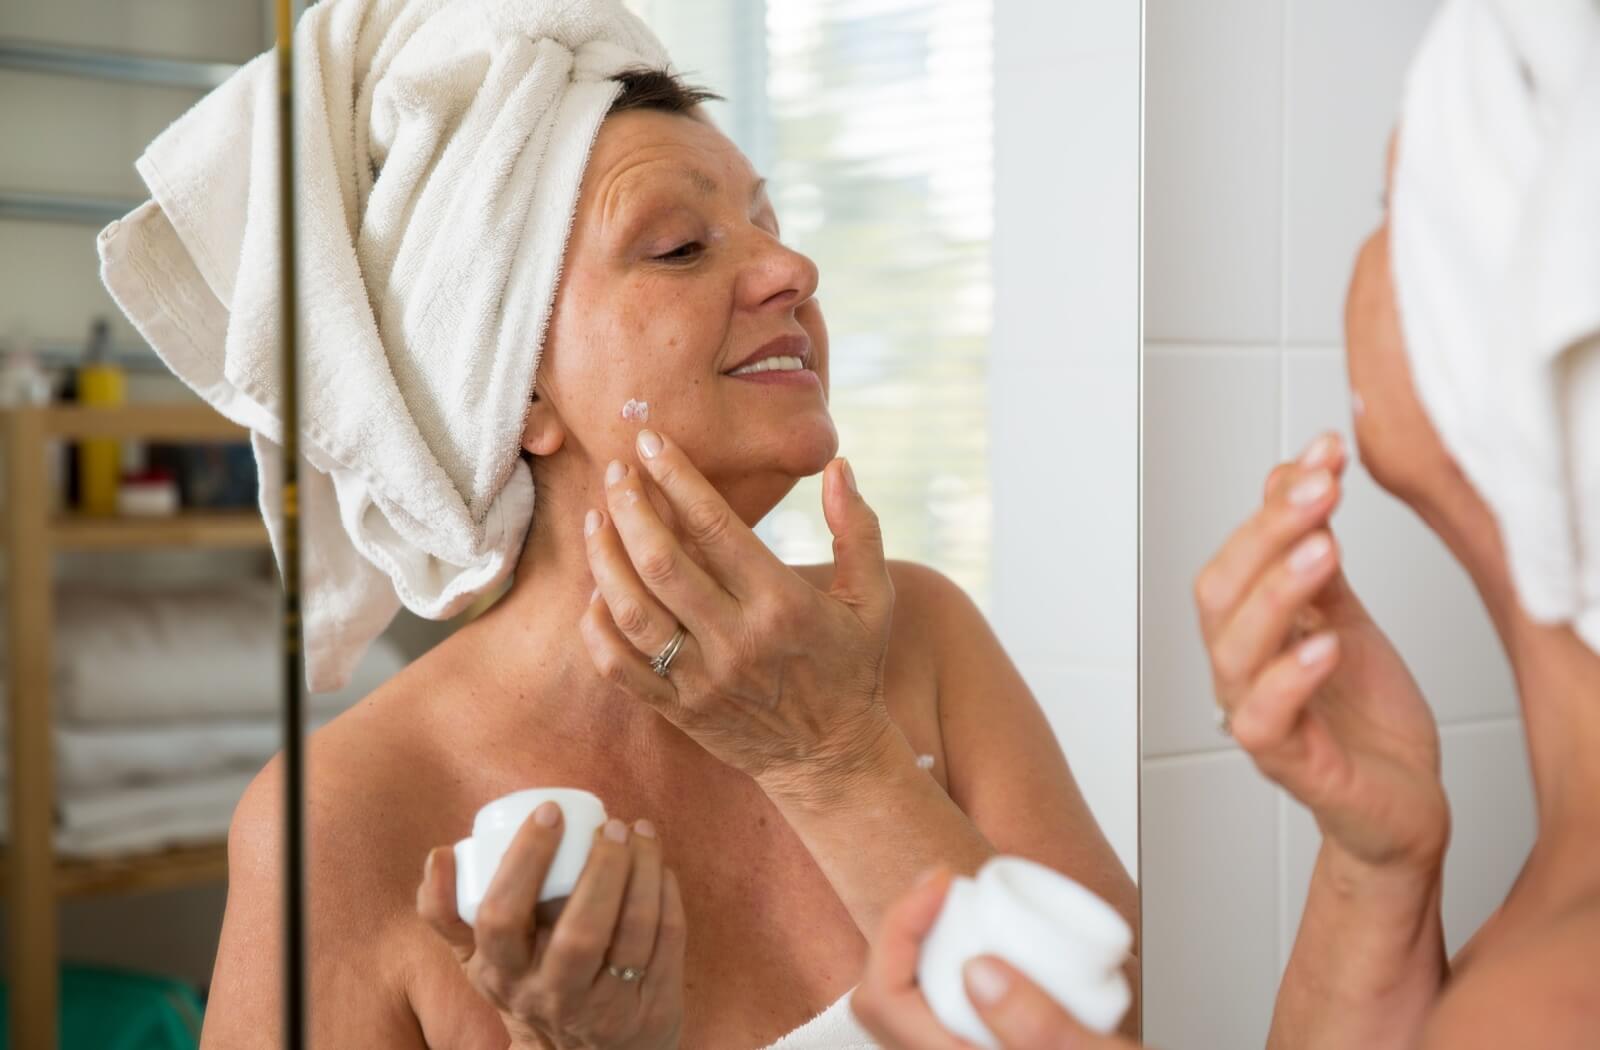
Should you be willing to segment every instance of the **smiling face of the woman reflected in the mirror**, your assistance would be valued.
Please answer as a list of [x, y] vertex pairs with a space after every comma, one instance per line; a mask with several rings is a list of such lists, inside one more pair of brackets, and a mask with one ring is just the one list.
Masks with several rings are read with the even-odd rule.
[[[541, 467], [560, 458], [603, 471], [632, 459], [648, 426], [741, 515], [765, 514], [838, 447], [816, 282], [816, 266], [779, 240], [763, 181], [710, 123], [608, 117], [534, 386], [534, 421], [546, 413], [560, 429], [558, 450], [534, 450], [547, 453]], [[766, 370], [749, 370], [762, 360]]]

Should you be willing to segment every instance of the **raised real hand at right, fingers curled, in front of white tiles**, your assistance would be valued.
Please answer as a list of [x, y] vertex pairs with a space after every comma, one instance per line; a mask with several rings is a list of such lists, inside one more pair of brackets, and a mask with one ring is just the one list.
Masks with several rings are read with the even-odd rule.
[[1450, 839], [1438, 730], [1357, 600], [1328, 519], [1344, 443], [1326, 434], [1267, 477], [1262, 507], [1195, 578], [1227, 730], [1362, 869], [1435, 874]]

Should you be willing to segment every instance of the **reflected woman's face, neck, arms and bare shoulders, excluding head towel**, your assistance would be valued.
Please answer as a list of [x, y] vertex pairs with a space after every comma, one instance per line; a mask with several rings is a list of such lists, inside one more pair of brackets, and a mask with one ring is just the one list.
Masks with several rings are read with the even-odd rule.
[[[618, 80], [522, 432], [541, 496], [510, 589], [310, 741], [317, 1045], [766, 1045], [854, 986], [917, 871], [995, 850], [1131, 917], [982, 616], [883, 560], [834, 458], [818, 272], [763, 181], [699, 93]], [[750, 527], [822, 471], [837, 562], [784, 567]], [[530, 786], [632, 823], [552, 927], [533, 896], [560, 815], [536, 813], [469, 930], [440, 847]], [[278, 1040], [280, 792], [272, 763], [234, 818], [206, 1047]]]

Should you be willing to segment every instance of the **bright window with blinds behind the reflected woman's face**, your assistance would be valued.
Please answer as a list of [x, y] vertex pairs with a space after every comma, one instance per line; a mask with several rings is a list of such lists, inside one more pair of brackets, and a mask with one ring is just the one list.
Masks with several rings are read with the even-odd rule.
[[[629, 0], [816, 259], [840, 447], [891, 557], [989, 597], [989, 0]], [[818, 479], [763, 522], [832, 557]]]

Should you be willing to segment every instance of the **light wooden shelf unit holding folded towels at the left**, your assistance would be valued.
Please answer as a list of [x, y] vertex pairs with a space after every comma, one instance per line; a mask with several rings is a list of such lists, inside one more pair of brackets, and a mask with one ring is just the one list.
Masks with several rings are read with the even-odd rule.
[[187, 512], [171, 519], [53, 514], [45, 467], [64, 440], [243, 440], [246, 431], [208, 405], [118, 408], [40, 407], [0, 410], [5, 440], [6, 706], [10, 707], [10, 834], [0, 892], [10, 930], [11, 1045], [54, 1047], [58, 1004], [56, 903], [99, 893], [141, 893], [219, 882], [227, 877], [224, 844], [162, 850], [114, 860], [70, 860], [54, 853], [54, 661], [53, 562], [61, 551], [266, 546], [256, 511]]

